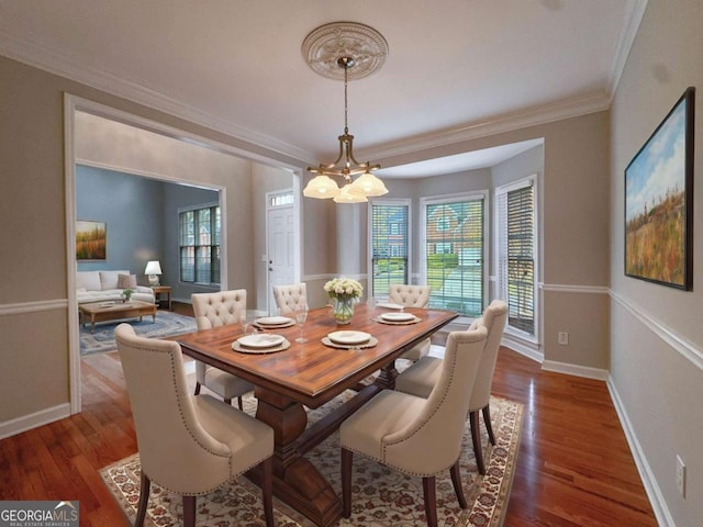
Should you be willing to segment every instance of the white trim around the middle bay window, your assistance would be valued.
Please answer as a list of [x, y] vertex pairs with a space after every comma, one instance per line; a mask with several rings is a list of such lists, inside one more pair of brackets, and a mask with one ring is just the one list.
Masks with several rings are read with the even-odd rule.
[[[483, 200], [483, 247], [482, 255], [483, 258], [483, 298], [481, 299], [482, 309], [486, 309], [487, 299], [489, 295], [489, 268], [490, 262], [488, 259], [489, 253], [489, 244], [490, 244], [490, 223], [491, 217], [489, 215], [490, 212], [490, 197], [491, 193], [488, 189], [481, 190], [472, 190], [469, 192], [461, 192], [458, 194], [442, 194], [434, 197], [423, 197], [420, 199], [420, 237], [419, 239], [427, 239], [427, 205], [436, 205], [442, 203], [454, 203], [457, 201], [476, 201], [479, 199]], [[427, 246], [426, 244], [420, 244], [419, 250], [419, 270], [420, 270], [420, 279], [422, 283], [427, 283]], [[465, 315], [459, 315], [456, 318], [455, 324], [458, 323], [460, 325], [469, 324], [473, 318]]]

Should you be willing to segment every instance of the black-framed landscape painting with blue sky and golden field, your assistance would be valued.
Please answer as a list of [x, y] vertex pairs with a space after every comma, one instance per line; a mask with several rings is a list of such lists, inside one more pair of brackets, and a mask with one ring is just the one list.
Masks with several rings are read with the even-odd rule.
[[625, 169], [625, 274], [693, 288], [693, 104], [688, 88]]

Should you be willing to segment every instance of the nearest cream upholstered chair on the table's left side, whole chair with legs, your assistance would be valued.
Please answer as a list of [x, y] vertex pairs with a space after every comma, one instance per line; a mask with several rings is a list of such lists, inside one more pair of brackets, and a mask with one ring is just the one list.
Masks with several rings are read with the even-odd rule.
[[183, 525], [196, 525], [197, 496], [261, 463], [266, 525], [274, 525], [274, 429], [210, 395], [188, 393], [178, 343], [115, 329], [142, 463], [135, 526], [144, 524], [152, 481], [183, 496]]

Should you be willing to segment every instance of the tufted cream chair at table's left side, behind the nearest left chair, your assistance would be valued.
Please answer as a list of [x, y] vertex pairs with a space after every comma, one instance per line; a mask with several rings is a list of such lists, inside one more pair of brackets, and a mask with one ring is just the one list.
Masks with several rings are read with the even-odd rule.
[[[238, 324], [246, 314], [246, 290], [217, 291], [216, 293], [193, 293], [190, 295], [198, 330], [228, 324]], [[196, 395], [200, 388], [212, 390], [227, 404], [237, 397], [242, 410], [242, 395], [254, 390], [254, 384], [232, 373], [196, 361]]]

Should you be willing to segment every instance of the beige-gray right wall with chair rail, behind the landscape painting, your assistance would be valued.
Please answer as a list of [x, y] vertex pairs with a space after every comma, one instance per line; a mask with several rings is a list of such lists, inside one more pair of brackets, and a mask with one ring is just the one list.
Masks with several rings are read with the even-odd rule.
[[[703, 5], [649, 0], [613, 101], [611, 384], [662, 525], [703, 518]], [[624, 274], [624, 170], [683, 91], [696, 87], [693, 291]], [[604, 189], [605, 190], [605, 189]], [[685, 497], [676, 457], [687, 464]], [[668, 511], [667, 511], [668, 509]]]

